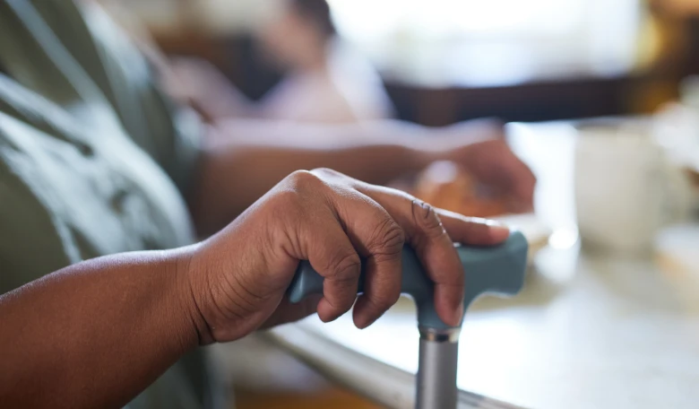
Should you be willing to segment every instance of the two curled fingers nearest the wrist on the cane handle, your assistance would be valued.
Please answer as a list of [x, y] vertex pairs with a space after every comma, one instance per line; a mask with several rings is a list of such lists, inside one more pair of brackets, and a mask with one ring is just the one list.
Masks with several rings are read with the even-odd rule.
[[297, 224], [301, 245], [294, 256], [307, 259], [324, 277], [318, 316], [332, 321], [352, 307], [363, 257], [364, 294], [355, 305], [354, 321], [359, 328], [371, 325], [401, 295], [401, 227], [339, 173], [314, 170], [294, 178], [294, 190], [311, 197], [301, 204], [304, 210]]

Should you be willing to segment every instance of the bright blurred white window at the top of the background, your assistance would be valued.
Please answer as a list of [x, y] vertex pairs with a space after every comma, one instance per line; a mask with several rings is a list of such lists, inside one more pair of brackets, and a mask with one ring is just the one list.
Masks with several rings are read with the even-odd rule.
[[330, 0], [385, 74], [494, 86], [633, 69], [642, 0]]

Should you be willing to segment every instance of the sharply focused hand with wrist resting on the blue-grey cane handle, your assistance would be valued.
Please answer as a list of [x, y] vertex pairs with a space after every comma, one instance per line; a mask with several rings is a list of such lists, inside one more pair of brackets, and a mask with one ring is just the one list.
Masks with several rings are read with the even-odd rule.
[[[453, 242], [493, 245], [508, 236], [506, 228], [332, 170], [298, 171], [191, 249], [183, 271], [202, 344], [233, 341], [315, 311], [332, 321], [355, 300], [354, 322], [364, 328], [398, 300], [401, 250], [409, 243], [436, 283], [439, 317], [459, 325], [464, 283]], [[366, 292], [357, 299], [360, 257]], [[299, 260], [324, 276], [324, 293], [290, 305], [284, 294]]]

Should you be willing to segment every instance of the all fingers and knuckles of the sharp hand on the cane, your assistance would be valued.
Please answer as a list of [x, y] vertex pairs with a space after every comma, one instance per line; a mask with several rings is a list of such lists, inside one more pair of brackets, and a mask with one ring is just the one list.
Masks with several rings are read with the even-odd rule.
[[509, 237], [508, 229], [332, 170], [306, 172], [303, 178], [310, 178], [306, 189], [320, 195], [308, 203], [328, 204], [307, 206], [300, 223], [306, 244], [298, 256], [324, 276], [324, 297], [317, 304], [322, 320], [340, 317], [357, 300], [361, 258], [364, 294], [355, 305], [355, 325], [364, 328], [380, 318], [400, 296], [401, 252], [408, 242], [435, 283], [437, 314], [448, 325], [461, 324], [464, 274], [453, 243], [495, 245]]

